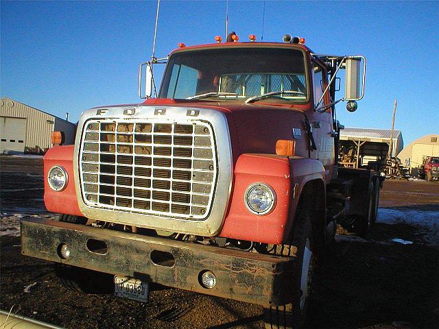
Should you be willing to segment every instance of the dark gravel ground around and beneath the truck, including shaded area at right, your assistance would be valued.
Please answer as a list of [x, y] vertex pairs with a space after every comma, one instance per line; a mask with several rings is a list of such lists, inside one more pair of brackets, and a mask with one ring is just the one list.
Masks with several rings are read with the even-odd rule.
[[[51, 263], [21, 256], [14, 236], [20, 218], [53, 216], [43, 206], [41, 158], [0, 161], [1, 309], [65, 328], [263, 328], [260, 306], [158, 285], [147, 304], [65, 289]], [[340, 230], [327, 247], [307, 328], [439, 328], [437, 232], [405, 224], [425, 214], [439, 222], [439, 182], [386, 181], [380, 206], [384, 222], [367, 239]]]

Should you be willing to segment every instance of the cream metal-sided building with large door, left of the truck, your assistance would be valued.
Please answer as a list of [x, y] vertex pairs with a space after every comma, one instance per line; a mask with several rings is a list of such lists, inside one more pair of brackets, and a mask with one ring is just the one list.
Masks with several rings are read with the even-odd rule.
[[0, 99], [0, 154], [8, 151], [41, 153], [52, 147], [50, 133], [64, 132], [75, 143], [75, 123], [55, 117], [14, 99]]

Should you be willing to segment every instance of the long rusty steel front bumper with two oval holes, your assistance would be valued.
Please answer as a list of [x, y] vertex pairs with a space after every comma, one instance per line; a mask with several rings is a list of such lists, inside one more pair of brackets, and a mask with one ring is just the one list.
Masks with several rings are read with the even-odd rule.
[[[62, 244], [71, 250], [67, 259], [58, 255]], [[263, 306], [289, 302], [295, 259], [48, 219], [21, 221], [21, 252], [57, 263]], [[165, 255], [168, 259], [162, 263], [152, 254]], [[204, 271], [215, 273], [217, 283], [213, 289], [200, 284]]]

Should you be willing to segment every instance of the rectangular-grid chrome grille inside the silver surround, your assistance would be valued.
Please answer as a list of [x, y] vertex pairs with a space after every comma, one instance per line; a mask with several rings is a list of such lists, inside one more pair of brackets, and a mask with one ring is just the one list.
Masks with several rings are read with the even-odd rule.
[[212, 127], [205, 121], [89, 120], [80, 148], [87, 206], [199, 219], [217, 179]]

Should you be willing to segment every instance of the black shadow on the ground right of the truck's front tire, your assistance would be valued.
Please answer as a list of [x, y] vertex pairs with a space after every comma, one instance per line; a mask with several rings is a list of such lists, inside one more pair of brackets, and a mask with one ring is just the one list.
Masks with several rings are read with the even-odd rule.
[[392, 321], [439, 328], [439, 249], [390, 241], [395, 237], [416, 241], [416, 229], [376, 224], [366, 240], [329, 247], [307, 328], [396, 328], [383, 326]]

